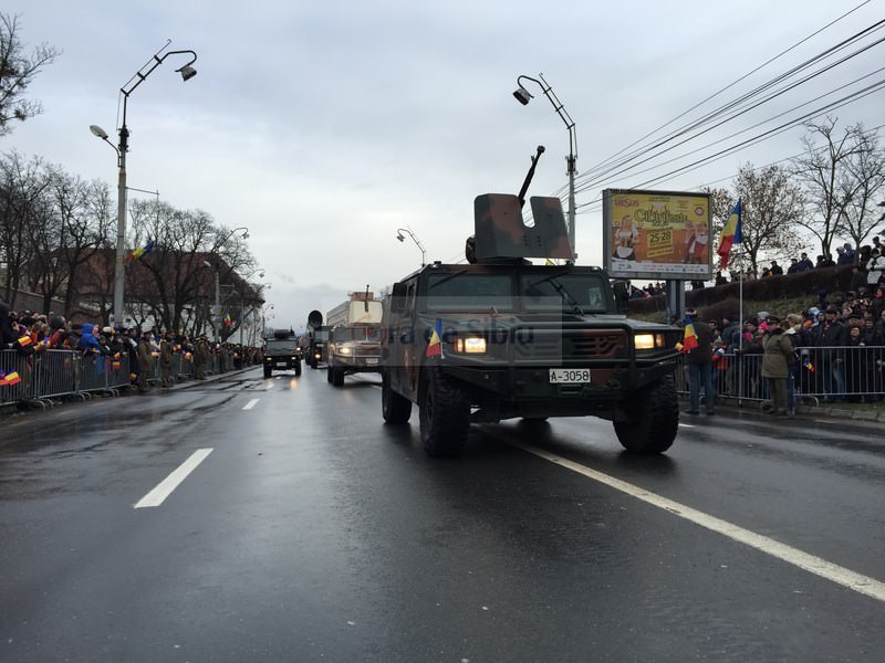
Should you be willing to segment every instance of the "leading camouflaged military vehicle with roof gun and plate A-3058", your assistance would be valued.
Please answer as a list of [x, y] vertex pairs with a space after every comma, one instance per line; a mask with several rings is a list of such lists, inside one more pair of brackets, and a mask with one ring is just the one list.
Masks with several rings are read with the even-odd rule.
[[[558, 198], [475, 200], [468, 264], [434, 262], [394, 284], [384, 311], [382, 414], [409, 420], [433, 456], [455, 456], [472, 422], [595, 415], [628, 451], [673, 444], [681, 330], [629, 319], [627, 286], [574, 264]], [[545, 263], [532, 264], [530, 257]]]

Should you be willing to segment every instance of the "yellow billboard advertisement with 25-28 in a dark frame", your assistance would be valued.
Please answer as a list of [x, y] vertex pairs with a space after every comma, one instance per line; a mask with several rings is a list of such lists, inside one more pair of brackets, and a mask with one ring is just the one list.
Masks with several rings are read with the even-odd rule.
[[707, 281], [711, 230], [707, 193], [603, 191], [603, 262], [611, 276]]

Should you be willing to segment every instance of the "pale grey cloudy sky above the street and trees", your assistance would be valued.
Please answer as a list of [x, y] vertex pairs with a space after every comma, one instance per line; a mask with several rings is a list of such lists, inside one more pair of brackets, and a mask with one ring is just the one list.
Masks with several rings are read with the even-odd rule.
[[[840, 56], [865, 53], [655, 161], [593, 177], [602, 162], [731, 105], [884, 10], [885, 0], [7, 0], [21, 39], [61, 55], [29, 90], [44, 113], [0, 149], [115, 188], [116, 157], [88, 126], [115, 141], [119, 88], [167, 40], [195, 51], [195, 78], [181, 81], [187, 60], [173, 55], [129, 97], [128, 183], [247, 227], [271, 284], [270, 324], [298, 329], [310, 309], [418, 267], [398, 228], [428, 261], [461, 260], [473, 198], [518, 192], [538, 145], [530, 194], [565, 196], [568, 129], [533, 83], [535, 98], [517, 103], [520, 74], [543, 73], [575, 123], [579, 263], [600, 264], [603, 189], [728, 186], [743, 164], [799, 154], [801, 127], [655, 179], [882, 81], [882, 30]], [[832, 114], [872, 128], [883, 108], [875, 91]]]

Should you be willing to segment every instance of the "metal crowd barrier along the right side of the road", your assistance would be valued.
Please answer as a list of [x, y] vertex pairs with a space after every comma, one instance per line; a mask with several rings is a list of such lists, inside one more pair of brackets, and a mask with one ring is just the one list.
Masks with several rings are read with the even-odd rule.
[[[885, 347], [796, 348], [799, 359], [788, 378], [791, 408], [799, 402], [875, 402], [885, 399]], [[688, 392], [685, 357], [676, 373], [677, 390]], [[726, 354], [712, 362], [719, 399], [767, 401], [761, 354]]]

